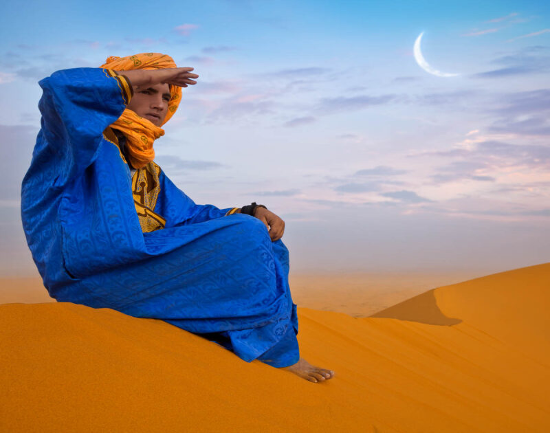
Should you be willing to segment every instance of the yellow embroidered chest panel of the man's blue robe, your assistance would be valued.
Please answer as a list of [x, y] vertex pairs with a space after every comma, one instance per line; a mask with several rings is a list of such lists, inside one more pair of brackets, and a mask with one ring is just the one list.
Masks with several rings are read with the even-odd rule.
[[150, 162], [136, 170], [132, 177], [133, 203], [144, 233], [163, 229], [166, 225], [166, 220], [153, 211], [160, 192], [159, 174], [160, 167]]

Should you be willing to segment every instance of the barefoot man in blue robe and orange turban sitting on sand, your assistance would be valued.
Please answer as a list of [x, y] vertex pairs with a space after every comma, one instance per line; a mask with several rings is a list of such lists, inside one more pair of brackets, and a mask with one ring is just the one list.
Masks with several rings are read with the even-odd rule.
[[283, 220], [256, 203], [197, 205], [153, 162], [191, 71], [147, 53], [41, 80], [21, 214], [44, 285], [60, 302], [164, 320], [247, 362], [330, 379], [299, 357]]

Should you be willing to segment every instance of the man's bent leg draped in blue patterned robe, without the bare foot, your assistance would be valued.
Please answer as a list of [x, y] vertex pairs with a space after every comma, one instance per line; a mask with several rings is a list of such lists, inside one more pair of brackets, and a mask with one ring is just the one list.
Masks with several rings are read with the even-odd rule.
[[[193, 226], [199, 225], [203, 233], [197, 238]], [[56, 299], [157, 318], [194, 333], [223, 333], [236, 355], [249, 362], [276, 346], [289, 330], [296, 340], [288, 260], [286, 265], [278, 260], [286, 248], [282, 243], [274, 248], [261, 221], [234, 215], [170, 230], [174, 236], [192, 232], [192, 241], [85, 278]], [[289, 365], [298, 355], [297, 344], [290, 348], [296, 353], [279, 353], [283, 360], [274, 362]]]

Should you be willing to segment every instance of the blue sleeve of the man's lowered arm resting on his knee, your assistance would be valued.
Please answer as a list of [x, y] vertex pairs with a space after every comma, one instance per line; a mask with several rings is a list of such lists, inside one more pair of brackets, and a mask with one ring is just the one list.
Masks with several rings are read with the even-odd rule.
[[195, 201], [192, 201], [185, 192], [177, 188], [162, 170], [159, 181], [161, 192], [155, 206], [155, 212], [166, 219], [166, 227], [202, 223], [203, 221], [225, 216], [232, 209], [219, 209], [208, 204], [195, 204]]

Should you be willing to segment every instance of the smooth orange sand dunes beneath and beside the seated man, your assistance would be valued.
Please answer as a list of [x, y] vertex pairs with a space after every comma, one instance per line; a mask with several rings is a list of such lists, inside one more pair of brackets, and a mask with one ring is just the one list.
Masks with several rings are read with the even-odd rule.
[[369, 318], [301, 308], [302, 355], [336, 370], [323, 384], [158, 320], [0, 305], [0, 430], [547, 432], [549, 291], [547, 263]]

